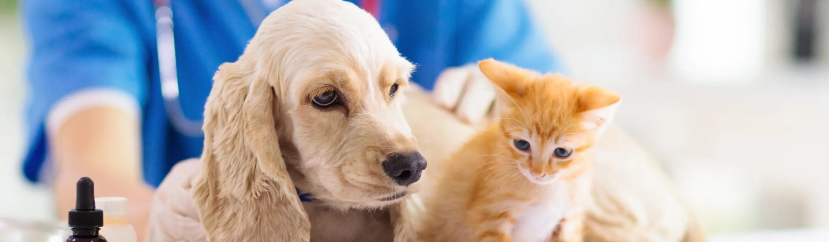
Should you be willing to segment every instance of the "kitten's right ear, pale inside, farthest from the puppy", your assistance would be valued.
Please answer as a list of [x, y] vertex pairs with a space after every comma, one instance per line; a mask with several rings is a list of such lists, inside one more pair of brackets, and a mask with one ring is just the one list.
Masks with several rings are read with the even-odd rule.
[[579, 110], [584, 117], [584, 128], [592, 130], [596, 137], [599, 137], [607, 128], [622, 96], [602, 88], [587, 87], [579, 90]]

